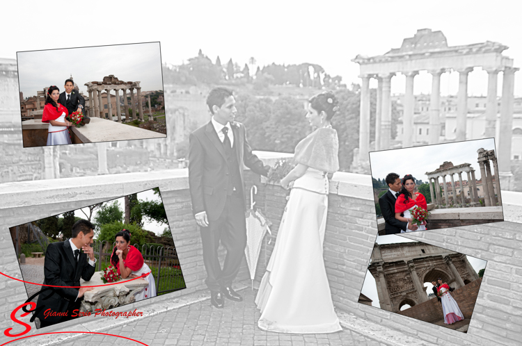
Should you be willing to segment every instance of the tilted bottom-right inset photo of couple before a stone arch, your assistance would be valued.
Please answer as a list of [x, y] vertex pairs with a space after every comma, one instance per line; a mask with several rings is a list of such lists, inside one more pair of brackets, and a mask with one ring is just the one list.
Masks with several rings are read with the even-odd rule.
[[466, 333], [487, 261], [378, 236], [358, 302]]

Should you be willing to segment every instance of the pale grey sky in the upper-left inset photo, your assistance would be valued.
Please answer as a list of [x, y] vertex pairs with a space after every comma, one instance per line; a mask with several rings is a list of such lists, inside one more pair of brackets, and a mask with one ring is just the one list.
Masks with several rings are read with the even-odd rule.
[[17, 61], [19, 89], [24, 97], [50, 85], [63, 92], [65, 79], [71, 75], [84, 95], [88, 95], [85, 83], [103, 81], [109, 74], [120, 81], [141, 82], [142, 91], [163, 90], [159, 42], [19, 51]]

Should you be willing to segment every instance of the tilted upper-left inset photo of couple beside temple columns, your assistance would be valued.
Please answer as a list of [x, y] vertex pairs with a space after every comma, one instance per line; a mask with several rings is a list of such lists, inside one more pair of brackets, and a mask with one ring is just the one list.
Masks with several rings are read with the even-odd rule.
[[24, 148], [166, 138], [159, 42], [17, 52]]

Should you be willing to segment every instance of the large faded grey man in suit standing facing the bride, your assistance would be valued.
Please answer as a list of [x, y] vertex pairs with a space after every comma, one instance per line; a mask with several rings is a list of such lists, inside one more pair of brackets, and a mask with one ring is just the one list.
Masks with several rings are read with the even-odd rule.
[[[237, 109], [232, 90], [214, 88], [207, 106], [212, 120], [189, 137], [189, 186], [192, 211], [200, 226], [210, 302], [223, 308], [223, 296], [243, 300], [232, 290], [246, 247], [243, 164], [264, 176], [269, 167], [252, 154], [245, 126], [234, 122]], [[227, 249], [223, 269], [217, 254], [220, 241]]]

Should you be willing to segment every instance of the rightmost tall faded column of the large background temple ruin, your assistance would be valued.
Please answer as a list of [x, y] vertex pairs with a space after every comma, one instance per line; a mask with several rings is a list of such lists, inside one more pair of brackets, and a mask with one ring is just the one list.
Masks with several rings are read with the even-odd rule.
[[502, 83], [502, 103], [500, 104], [500, 138], [498, 138], [497, 159], [500, 186], [513, 190], [514, 177], [511, 172], [511, 140], [513, 134], [513, 90], [514, 74], [518, 68], [505, 67]]

